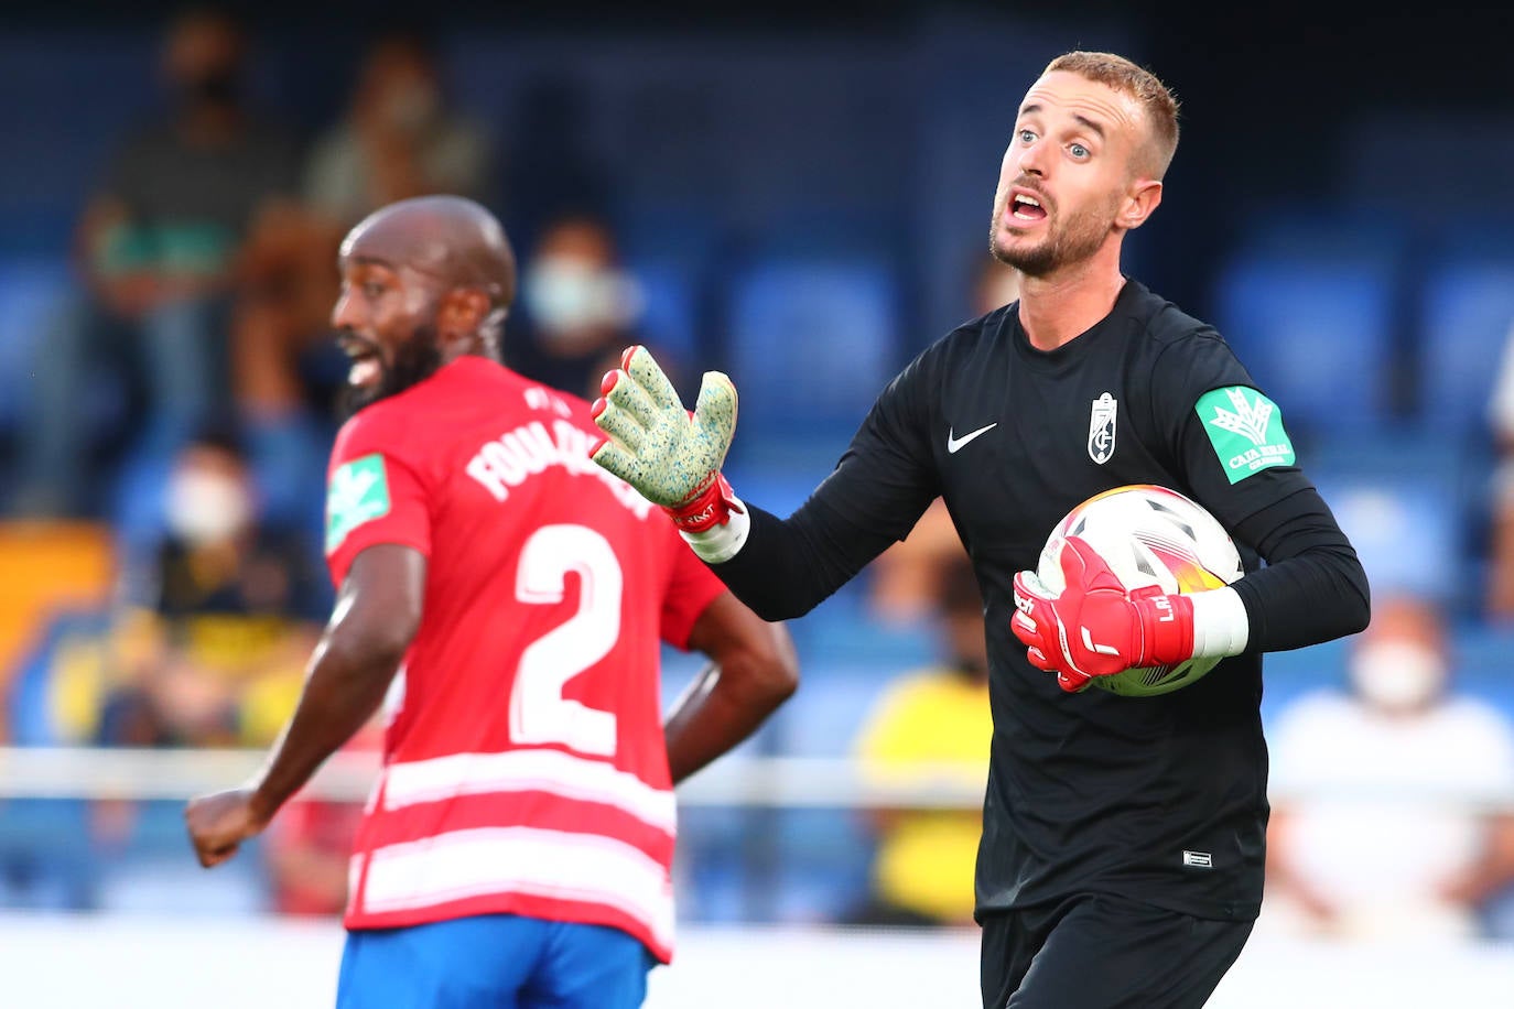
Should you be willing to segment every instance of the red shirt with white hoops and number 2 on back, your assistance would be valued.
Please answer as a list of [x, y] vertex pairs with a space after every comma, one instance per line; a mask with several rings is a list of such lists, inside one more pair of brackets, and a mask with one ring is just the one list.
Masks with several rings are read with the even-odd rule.
[[377, 543], [428, 558], [350, 929], [519, 914], [672, 955], [659, 640], [684, 647], [724, 587], [593, 436], [581, 399], [462, 357], [336, 439], [333, 581]]

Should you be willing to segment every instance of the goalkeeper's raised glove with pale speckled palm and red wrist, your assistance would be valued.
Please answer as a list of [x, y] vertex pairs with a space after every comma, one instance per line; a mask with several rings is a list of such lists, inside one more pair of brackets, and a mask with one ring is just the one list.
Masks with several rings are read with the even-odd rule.
[[731, 380], [706, 372], [690, 414], [646, 348], [631, 346], [600, 390], [593, 422], [606, 440], [590, 458], [662, 505], [686, 532], [728, 522], [740, 507], [721, 477], [736, 434]]

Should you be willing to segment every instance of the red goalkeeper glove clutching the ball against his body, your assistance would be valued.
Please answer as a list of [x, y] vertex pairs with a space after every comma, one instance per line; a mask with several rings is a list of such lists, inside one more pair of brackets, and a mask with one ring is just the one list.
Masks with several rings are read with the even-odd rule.
[[1069, 536], [1061, 548], [1066, 587], [1054, 596], [1036, 572], [1014, 576], [1010, 628], [1031, 666], [1057, 673], [1072, 693], [1095, 676], [1167, 666], [1193, 657], [1193, 601], [1152, 585], [1132, 593], [1087, 540]]

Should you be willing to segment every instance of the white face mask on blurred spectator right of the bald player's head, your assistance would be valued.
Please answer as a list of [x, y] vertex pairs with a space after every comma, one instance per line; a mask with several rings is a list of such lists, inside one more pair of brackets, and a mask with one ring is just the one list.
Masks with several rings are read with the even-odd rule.
[[636, 281], [569, 256], [545, 256], [525, 271], [521, 296], [542, 336], [559, 346], [593, 342], [586, 330], [624, 327], [642, 313]]

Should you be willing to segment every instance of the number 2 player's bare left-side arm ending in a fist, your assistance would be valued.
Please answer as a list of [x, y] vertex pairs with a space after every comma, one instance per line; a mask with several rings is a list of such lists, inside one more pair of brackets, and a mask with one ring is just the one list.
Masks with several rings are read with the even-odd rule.
[[195, 799], [185, 809], [201, 865], [236, 855], [372, 716], [421, 625], [424, 590], [419, 551], [378, 545], [357, 555], [310, 657], [294, 717], [263, 770], [242, 788]]

